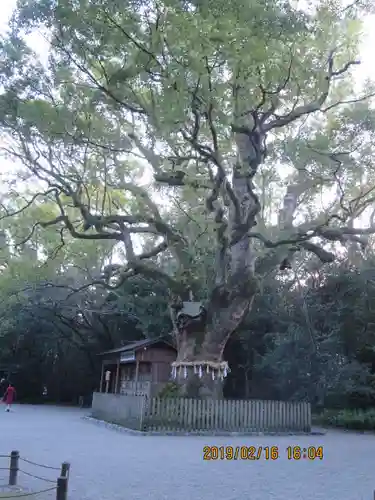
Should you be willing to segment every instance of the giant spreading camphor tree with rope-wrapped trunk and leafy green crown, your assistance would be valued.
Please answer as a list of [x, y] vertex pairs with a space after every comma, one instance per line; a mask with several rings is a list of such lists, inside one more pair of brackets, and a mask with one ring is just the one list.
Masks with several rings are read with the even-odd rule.
[[[336, 242], [363, 250], [375, 232], [357, 223], [374, 199], [372, 88], [351, 76], [367, 12], [333, 0], [18, 2], [0, 123], [28, 184], [25, 202], [13, 185], [3, 217], [39, 207], [22, 243], [45, 227], [62, 243], [117, 243], [122, 259], [92, 285], [165, 283], [182, 394], [220, 394], [226, 342], [265, 274], [298, 252], [332, 262]], [[35, 28], [44, 65], [24, 41]], [[206, 293], [197, 234], [172, 198], [207, 223]]]

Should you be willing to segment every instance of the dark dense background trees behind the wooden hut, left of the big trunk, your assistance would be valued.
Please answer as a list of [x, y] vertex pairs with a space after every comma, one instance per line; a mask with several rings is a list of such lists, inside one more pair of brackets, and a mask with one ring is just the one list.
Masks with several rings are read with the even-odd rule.
[[[17, 234], [22, 233], [21, 222], [17, 218]], [[45, 250], [53, 248], [55, 233], [50, 233], [49, 228], [42, 233]], [[55, 258], [47, 260], [36, 258], [30, 248], [4, 244], [1, 250], [0, 369], [23, 402], [77, 403], [98, 388], [99, 352], [170, 331], [158, 283], [139, 277], [115, 292], [85, 288], [74, 293], [90, 282], [103, 251], [97, 245], [91, 253], [89, 248], [74, 252], [76, 244], [65, 241]], [[44, 387], [47, 398], [42, 398]]]

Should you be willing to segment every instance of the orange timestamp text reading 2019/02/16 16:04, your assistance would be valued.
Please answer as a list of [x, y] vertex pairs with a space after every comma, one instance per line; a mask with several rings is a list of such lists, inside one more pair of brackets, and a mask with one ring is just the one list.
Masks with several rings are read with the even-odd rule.
[[323, 446], [204, 446], [203, 460], [323, 460]]

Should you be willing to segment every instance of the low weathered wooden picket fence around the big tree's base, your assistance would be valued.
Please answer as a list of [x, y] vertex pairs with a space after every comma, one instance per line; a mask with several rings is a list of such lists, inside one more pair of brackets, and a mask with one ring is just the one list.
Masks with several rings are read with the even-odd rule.
[[311, 430], [308, 402], [147, 398], [94, 393], [92, 415], [151, 431]]

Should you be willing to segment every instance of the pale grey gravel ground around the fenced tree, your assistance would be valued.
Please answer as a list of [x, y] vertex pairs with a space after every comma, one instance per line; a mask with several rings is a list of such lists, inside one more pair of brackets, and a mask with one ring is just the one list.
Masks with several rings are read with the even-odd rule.
[[[50, 466], [71, 463], [69, 500], [373, 500], [375, 436], [329, 431], [324, 436], [134, 436], [96, 426], [86, 410], [0, 407], [0, 453]], [[203, 447], [278, 446], [275, 461], [203, 461]], [[289, 461], [290, 445], [324, 447], [324, 459]], [[0, 468], [7, 466], [0, 459]], [[54, 480], [57, 472], [25, 462], [26, 472]], [[6, 471], [0, 470], [1, 483]], [[48, 488], [25, 474], [20, 484]], [[25, 497], [27, 500], [29, 497]], [[36, 497], [54, 498], [53, 493]]]

